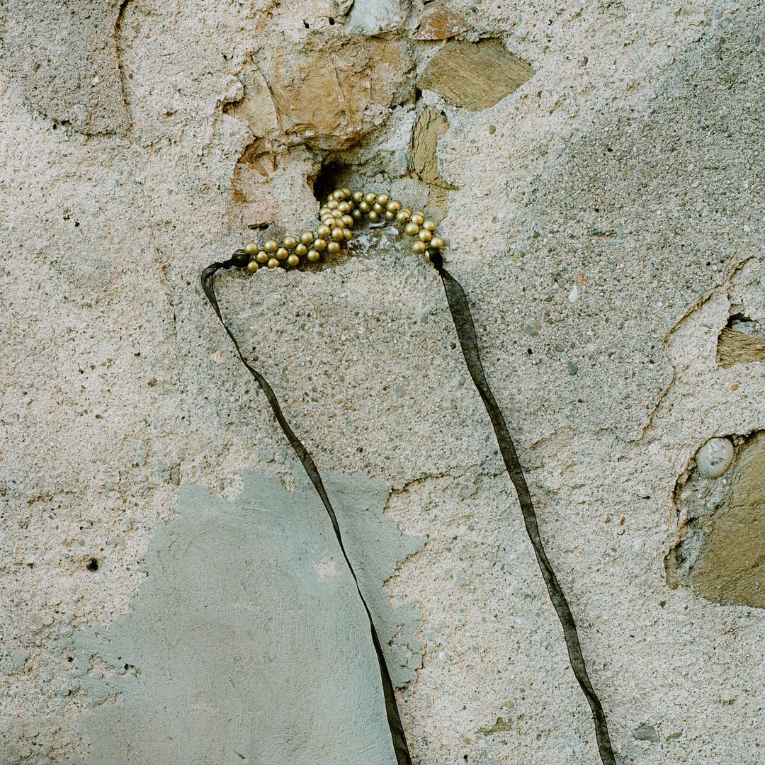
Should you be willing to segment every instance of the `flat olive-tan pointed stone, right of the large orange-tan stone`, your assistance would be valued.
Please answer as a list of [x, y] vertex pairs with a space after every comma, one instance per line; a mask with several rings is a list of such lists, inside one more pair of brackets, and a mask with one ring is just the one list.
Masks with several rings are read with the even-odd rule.
[[531, 64], [511, 54], [500, 40], [451, 40], [430, 60], [417, 84], [453, 106], [478, 111], [509, 96], [533, 73]]

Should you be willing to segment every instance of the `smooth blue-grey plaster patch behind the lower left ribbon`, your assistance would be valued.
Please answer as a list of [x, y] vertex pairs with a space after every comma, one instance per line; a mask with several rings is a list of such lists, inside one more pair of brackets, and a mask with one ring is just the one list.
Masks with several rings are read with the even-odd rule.
[[[387, 487], [327, 476], [343, 539], [389, 659], [422, 659], [413, 607], [382, 584], [422, 542], [382, 517]], [[308, 480], [243, 474], [233, 501], [185, 483], [129, 613], [76, 633], [86, 765], [392, 762], [369, 627]], [[411, 660], [409, 666], [405, 659]]]

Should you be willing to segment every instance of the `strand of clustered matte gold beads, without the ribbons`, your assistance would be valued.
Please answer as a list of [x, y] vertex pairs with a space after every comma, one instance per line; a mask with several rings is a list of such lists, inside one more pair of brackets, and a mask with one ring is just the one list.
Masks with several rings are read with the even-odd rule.
[[320, 262], [325, 254], [337, 255], [340, 248], [353, 236], [351, 229], [364, 220], [380, 223], [387, 220], [399, 223], [408, 236], [415, 237], [412, 252], [428, 256], [428, 249], [441, 249], [444, 240], [436, 236], [435, 223], [419, 210], [409, 210], [388, 194], [337, 189], [330, 194], [327, 204], [319, 210], [321, 225], [315, 231], [302, 231], [299, 236], [285, 236], [280, 242], [268, 239], [259, 246], [249, 242], [244, 249], [234, 252], [231, 261], [239, 268], [256, 272], [263, 266], [269, 269], [297, 269], [301, 265]]

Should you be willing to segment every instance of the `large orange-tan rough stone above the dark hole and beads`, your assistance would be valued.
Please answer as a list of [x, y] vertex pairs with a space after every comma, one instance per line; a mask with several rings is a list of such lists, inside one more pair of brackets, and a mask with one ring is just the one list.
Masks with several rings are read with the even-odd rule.
[[402, 41], [311, 36], [301, 50], [275, 44], [266, 55], [282, 132], [311, 148], [347, 148], [414, 98]]

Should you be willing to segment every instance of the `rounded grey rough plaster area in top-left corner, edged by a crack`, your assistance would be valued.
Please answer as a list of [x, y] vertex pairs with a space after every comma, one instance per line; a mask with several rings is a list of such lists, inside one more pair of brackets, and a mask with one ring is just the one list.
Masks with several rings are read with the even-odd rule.
[[115, 32], [120, 7], [103, 0], [5, 5], [0, 66], [30, 106], [89, 135], [127, 128]]

